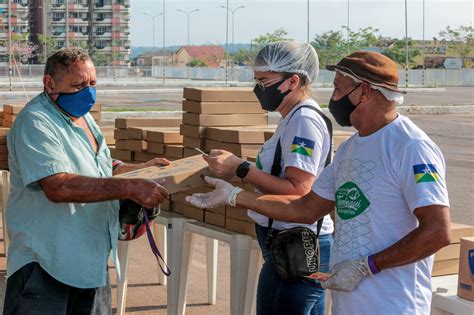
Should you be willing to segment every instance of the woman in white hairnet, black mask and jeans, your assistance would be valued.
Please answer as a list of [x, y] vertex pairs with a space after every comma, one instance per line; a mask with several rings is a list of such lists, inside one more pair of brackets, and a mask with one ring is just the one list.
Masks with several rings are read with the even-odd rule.
[[[277, 42], [260, 50], [253, 66], [254, 93], [263, 109], [277, 111], [282, 118], [273, 137], [263, 144], [255, 166], [230, 152], [212, 150], [204, 157], [210, 170], [226, 179], [237, 175], [265, 194], [307, 194], [327, 157], [330, 159], [330, 127], [311, 97], [310, 84], [315, 82], [318, 68], [318, 56], [309, 44]], [[280, 171], [274, 168], [272, 172], [278, 150], [281, 152]], [[313, 279], [284, 281], [273, 267], [266, 244], [269, 231], [275, 234], [305, 225], [271, 220], [271, 230], [269, 218], [250, 210], [248, 215], [256, 223], [265, 260], [257, 289], [257, 314], [325, 314], [325, 292], [319, 282]], [[316, 233], [316, 223], [306, 227]], [[333, 229], [331, 218], [325, 217], [319, 236], [320, 271], [323, 272], [329, 269]]]

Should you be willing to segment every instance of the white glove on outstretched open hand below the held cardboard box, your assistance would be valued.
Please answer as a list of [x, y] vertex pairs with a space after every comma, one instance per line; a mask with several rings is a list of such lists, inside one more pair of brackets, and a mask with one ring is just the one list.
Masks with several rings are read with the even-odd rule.
[[235, 207], [235, 199], [242, 188], [235, 187], [228, 182], [214, 177], [206, 176], [204, 180], [213, 186], [214, 191], [209, 193], [197, 193], [186, 197], [186, 201], [198, 208], [216, 208], [230, 205]]

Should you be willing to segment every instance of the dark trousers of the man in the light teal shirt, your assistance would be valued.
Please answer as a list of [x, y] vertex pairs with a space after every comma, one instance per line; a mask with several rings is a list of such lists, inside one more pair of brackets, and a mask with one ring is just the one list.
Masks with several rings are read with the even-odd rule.
[[29, 263], [7, 280], [4, 315], [111, 314], [111, 290], [80, 289], [51, 277], [38, 263]]

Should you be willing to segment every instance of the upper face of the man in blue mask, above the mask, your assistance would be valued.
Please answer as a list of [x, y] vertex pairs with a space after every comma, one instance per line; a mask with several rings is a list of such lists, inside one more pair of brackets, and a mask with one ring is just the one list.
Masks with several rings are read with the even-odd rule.
[[67, 71], [58, 73], [55, 77], [56, 79], [45, 75], [43, 78], [45, 90], [54, 100], [58, 98], [58, 93], [74, 93], [97, 84], [97, 75], [91, 60], [76, 61]]

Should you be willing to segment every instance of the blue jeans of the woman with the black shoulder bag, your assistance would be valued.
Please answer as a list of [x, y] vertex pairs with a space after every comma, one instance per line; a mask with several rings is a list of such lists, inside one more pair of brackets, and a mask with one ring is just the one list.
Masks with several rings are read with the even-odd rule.
[[[257, 315], [324, 315], [326, 293], [317, 280], [303, 279], [288, 282], [281, 279], [273, 267], [270, 250], [266, 246], [268, 228], [255, 224], [257, 240], [264, 263], [258, 279]], [[320, 271], [329, 271], [329, 257], [333, 238], [319, 236]]]

